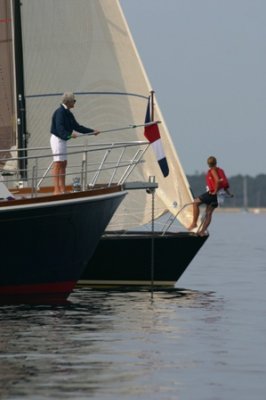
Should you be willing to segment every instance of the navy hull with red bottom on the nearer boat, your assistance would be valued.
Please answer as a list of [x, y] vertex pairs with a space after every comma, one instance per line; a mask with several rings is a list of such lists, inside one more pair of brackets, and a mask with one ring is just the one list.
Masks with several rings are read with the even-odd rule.
[[126, 194], [89, 193], [1, 203], [0, 303], [67, 299]]

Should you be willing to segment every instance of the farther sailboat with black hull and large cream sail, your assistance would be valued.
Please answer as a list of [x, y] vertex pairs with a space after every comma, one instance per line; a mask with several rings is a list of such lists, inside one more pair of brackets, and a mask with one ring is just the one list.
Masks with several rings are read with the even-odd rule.
[[[174, 284], [206, 237], [184, 231], [191, 222], [193, 197], [119, 1], [13, 0], [4, 3], [12, 4], [17, 15], [14, 33], [20, 31], [21, 37], [20, 43], [17, 41], [21, 57], [17, 68], [21, 72], [23, 66], [23, 80], [17, 83], [16, 91], [21, 96], [16, 107], [18, 129], [23, 134], [19, 135], [18, 147], [47, 146], [51, 113], [60, 102], [61, 94], [72, 91], [77, 98], [77, 119], [106, 132], [93, 140], [94, 146], [104, 149], [108, 143], [114, 150], [106, 151], [100, 170], [96, 167], [99, 153], [88, 153], [89, 165], [94, 171], [88, 187], [109, 182], [109, 188], [115, 184], [122, 185], [124, 190], [130, 188], [108, 224], [94, 257], [88, 261], [79, 284], [148, 283], [153, 257], [154, 284]], [[151, 121], [158, 123], [162, 149], [159, 156], [161, 152], [165, 154], [167, 174], [163, 174], [158, 154], [154, 152], [156, 143], [150, 145], [144, 136], [148, 105]], [[73, 147], [90, 148], [92, 139], [83, 136]], [[121, 152], [126, 142], [134, 146]], [[24, 153], [27, 156], [28, 150]], [[31, 165], [29, 157], [24, 160], [27, 166]], [[114, 173], [110, 172], [110, 165], [116, 166]], [[39, 166], [47, 168], [44, 160]], [[22, 185], [23, 179], [22, 176]], [[158, 188], [145, 190], [140, 182]], [[166, 228], [151, 228], [155, 220], [166, 214], [170, 215]], [[181, 228], [170, 232], [168, 227], [173, 227], [176, 221]]]

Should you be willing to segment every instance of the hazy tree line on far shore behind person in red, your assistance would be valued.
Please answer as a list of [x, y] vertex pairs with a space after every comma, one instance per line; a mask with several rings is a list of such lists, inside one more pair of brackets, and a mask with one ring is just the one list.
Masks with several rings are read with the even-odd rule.
[[[187, 175], [194, 197], [206, 189], [205, 174]], [[236, 175], [229, 178], [233, 198], [226, 198], [223, 207], [266, 207], [266, 175]]]

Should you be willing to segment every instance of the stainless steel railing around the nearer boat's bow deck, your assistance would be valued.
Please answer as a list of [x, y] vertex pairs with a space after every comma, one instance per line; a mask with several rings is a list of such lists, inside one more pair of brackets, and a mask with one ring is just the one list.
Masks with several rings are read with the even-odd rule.
[[[79, 179], [82, 190], [99, 184], [122, 185], [136, 166], [144, 162], [143, 156], [148, 146], [146, 141], [69, 146], [67, 184]], [[20, 153], [21, 149], [0, 151], [0, 178], [8, 188], [28, 186], [32, 188], [33, 195], [37, 195], [42, 186], [51, 184], [51, 150], [49, 147], [27, 148], [26, 157], [19, 157]], [[21, 163], [21, 160], [26, 162]], [[25, 164], [26, 169], [19, 169], [18, 165], [21, 164]]]

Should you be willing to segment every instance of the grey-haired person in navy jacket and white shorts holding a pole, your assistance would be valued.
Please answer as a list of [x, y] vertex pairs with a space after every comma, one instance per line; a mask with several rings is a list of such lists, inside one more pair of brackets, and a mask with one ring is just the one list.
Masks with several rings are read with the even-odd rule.
[[55, 110], [51, 123], [51, 148], [53, 152], [53, 178], [54, 194], [65, 192], [65, 175], [67, 166], [67, 141], [76, 138], [79, 133], [92, 133], [98, 135], [100, 132], [85, 126], [79, 125], [70, 111], [74, 108], [76, 99], [73, 93], [66, 92], [62, 97], [62, 104]]

